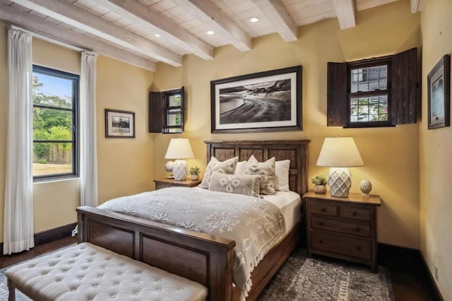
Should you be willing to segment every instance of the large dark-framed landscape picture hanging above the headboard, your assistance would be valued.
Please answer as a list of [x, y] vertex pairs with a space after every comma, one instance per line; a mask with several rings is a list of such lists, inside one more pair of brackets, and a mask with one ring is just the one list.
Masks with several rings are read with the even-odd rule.
[[212, 133], [302, 131], [302, 66], [210, 81]]

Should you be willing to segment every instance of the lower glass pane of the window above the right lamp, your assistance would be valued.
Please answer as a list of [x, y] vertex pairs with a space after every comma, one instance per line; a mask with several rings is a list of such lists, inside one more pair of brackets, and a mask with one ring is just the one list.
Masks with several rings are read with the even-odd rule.
[[386, 122], [388, 95], [350, 99], [350, 122]]

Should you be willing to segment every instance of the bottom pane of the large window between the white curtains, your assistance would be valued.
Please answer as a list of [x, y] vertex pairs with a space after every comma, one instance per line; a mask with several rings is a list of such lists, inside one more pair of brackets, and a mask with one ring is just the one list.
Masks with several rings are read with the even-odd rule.
[[73, 172], [72, 143], [33, 143], [33, 176]]

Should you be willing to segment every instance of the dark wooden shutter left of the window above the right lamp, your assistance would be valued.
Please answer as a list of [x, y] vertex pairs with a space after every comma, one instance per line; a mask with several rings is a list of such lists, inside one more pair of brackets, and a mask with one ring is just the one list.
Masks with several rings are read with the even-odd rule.
[[347, 63], [328, 63], [327, 126], [347, 126]]

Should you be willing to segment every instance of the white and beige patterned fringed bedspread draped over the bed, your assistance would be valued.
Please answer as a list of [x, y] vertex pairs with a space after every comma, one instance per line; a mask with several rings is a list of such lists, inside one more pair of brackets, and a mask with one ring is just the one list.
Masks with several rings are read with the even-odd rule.
[[251, 272], [285, 235], [278, 206], [242, 194], [169, 187], [112, 199], [98, 208], [234, 240], [234, 283], [242, 300], [251, 289]]

